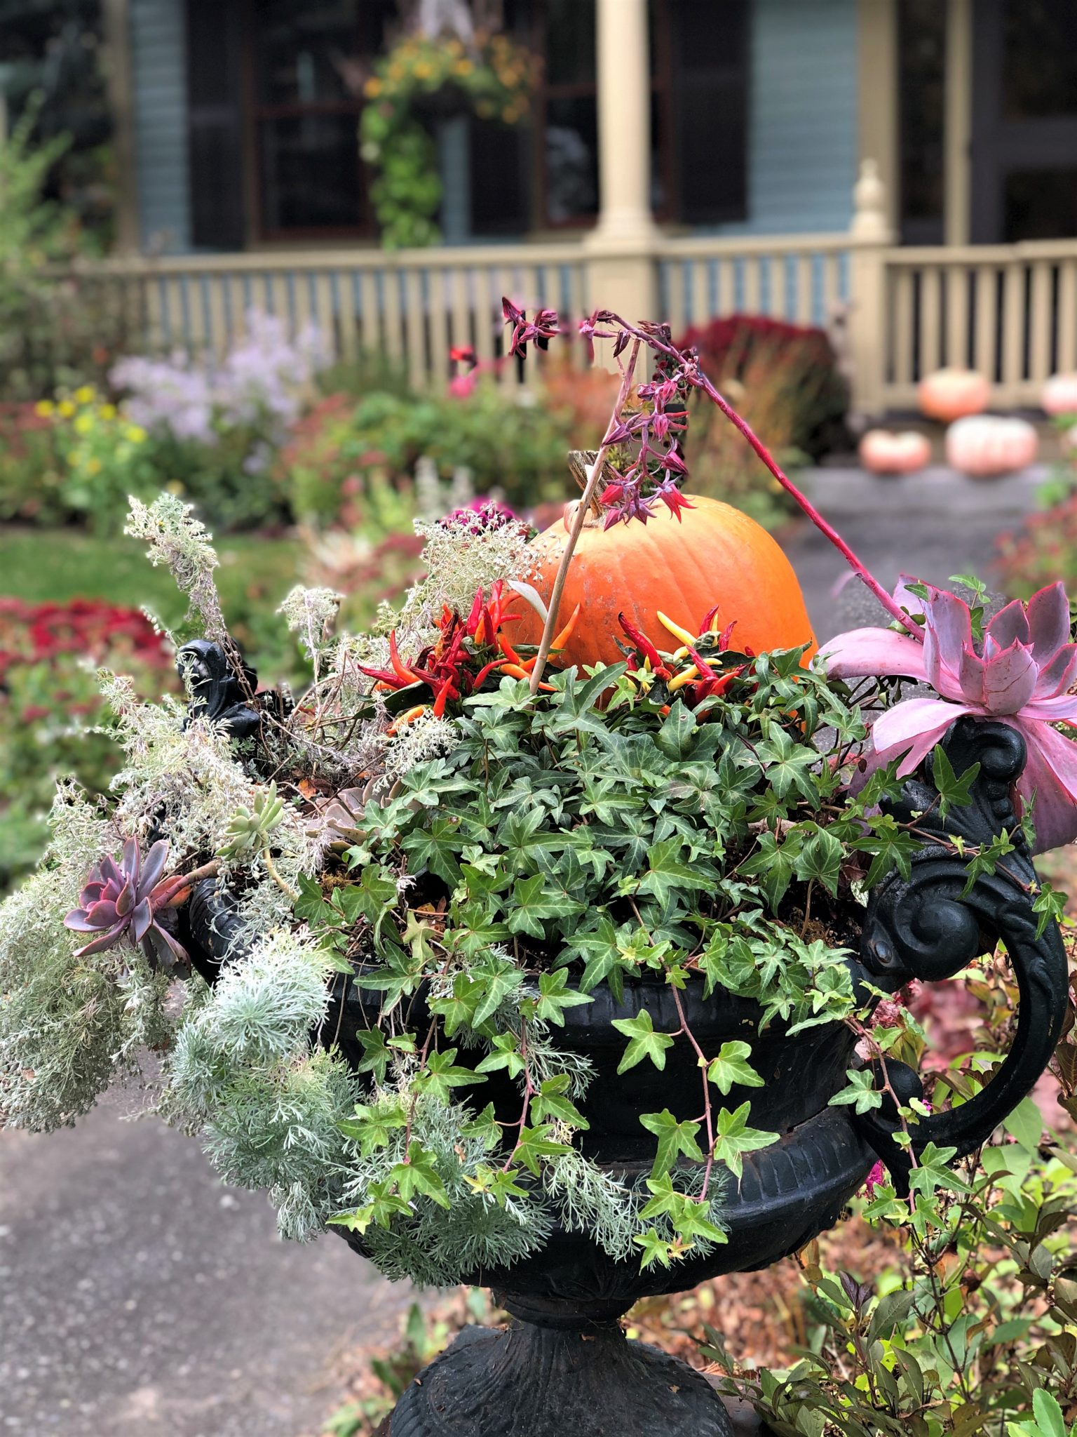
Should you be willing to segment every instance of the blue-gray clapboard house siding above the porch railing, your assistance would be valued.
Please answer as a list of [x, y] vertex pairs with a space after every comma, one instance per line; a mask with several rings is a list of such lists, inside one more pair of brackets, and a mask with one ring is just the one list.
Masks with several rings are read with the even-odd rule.
[[[191, 249], [184, 9], [131, 0], [142, 244], [168, 253]], [[748, 217], [711, 233], [844, 230], [857, 161], [857, 0], [754, 0], [750, 55]], [[462, 207], [449, 208], [452, 239], [464, 239]]]

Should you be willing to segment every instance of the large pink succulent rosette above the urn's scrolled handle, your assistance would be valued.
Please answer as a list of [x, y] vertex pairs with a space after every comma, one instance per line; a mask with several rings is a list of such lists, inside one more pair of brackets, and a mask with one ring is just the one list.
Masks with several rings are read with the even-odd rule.
[[908, 591], [902, 576], [895, 599], [912, 614], [923, 609], [923, 642], [895, 629], [862, 628], [823, 645], [833, 678], [903, 675], [929, 684], [938, 698], [906, 698], [872, 726], [870, 764], [903, 754], [898, 775], [912, 773], [955, 718], [994, 718], [1025, 740], [1028, 762], [1018, 798], [1035, 796], [1035, 852], [1077, 838], [1077, 744], [1058, 723], [1077, 723], [1077, 644], [1070, 641], [1070, 604], [1061, 583], [1014, 599], [991, 619], [984, 642], [972, 641], [968, 605], [955, 593], [928, 586], [928, 598]]

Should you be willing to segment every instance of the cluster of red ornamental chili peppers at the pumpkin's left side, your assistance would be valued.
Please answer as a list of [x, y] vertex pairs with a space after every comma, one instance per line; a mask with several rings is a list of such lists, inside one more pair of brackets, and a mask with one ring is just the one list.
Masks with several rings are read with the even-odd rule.
[[[451, 703], [467, 698], [482, 687], [491, 674], [507, 674], [511, 678], [528, 678], [534, 667], [534, 657], [521, 657], [513, 644], [501, 632], [503, 625], [511, 624], [518, 614], [510, 611], [510, 605], [517, 593], [505, 588], [504, 581], [497, 579], [487, 598], [485, 589], [475, 592], [471, 612], [467, 618], [448, 605], [442, 609], [438, 625], [438, 637], [432, 644], [422, 648], [416, 657], [408, 662], [401, 658], [396, 644], [396, 631], [389, 635], [389, 668], [368, 668], [359, 665], [369, 678], [375, 678], [378, 688], [405, 690], [412, 685], [425, 685], [432, 697], [432, 703], [419, 701], [408, 708], [393, 727], [411, 723], [428, 710], [435, 718], [441, 718]], [[579, 619], [580, 608], [576, 609], [553, 642], [553, 650], [560, 648]], [[543, 685], [549, 688], [549, 684]]]

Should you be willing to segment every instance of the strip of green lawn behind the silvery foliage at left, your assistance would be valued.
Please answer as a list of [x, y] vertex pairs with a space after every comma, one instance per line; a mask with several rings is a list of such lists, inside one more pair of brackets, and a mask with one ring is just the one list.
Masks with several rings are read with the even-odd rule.
[[[217, 552], [217, 585], [228, 625], [271, 678], [281, 662], [292, 667], [281, 621], [273, 611], [302, 576], [303, 546], [294, 539], [237, 535], [221, 539]], [[79, 529], [0, 526], [0, 595], [33, 604], [86, 598], [146, 605], [169, 628], [185, 612], [172, 576], [149, 565], [142, 545]]]

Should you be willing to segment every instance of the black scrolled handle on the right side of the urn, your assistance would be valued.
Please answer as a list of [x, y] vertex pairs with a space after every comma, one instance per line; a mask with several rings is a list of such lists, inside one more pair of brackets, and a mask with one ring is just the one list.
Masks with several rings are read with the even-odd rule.
[[[1058, 924], [1051, 921], [1037, 937], [1030, 888], [1035, 871], [1014, 812], [1014, 783], [1025, 766], [1021, 734], [1002, 723], [958, 718], [943, 739], [955, 773], [979, 763], [972, 802], [939, 818], [938, 798], [926, 775], [929, 762], [905, 785], [902, 798], [887, 805], [895, 818], [908, 821], [938, 839], [912, 859], [912, 875], [892, 874], [872, 895], [862, 938], [862, 961], [880, 986], [896, 989], [909, 979], [935, 983], [954, 977], [997, 943], [1007, 948], [1017, 976], [1020, 1006], [1017, 1033], [1002, 1066], [991, 1081], [949, 1112], [931, 1114], [910, 1128], [912, 1151], [928, 1142], [956, 1148], [958, 1155], [985, 1142], [995, 1127], [1021, 1102], [1044, 1072], [1061, 1036], [1068, 973]], [[994, 874], [981, 874], [972, 890], [968, 858], [948, 839], [965, 845], [989, 844], [1002, 831], [1015, 849]], [[916, 1073], [905, 1063], [886, 1062], [886, 1079], [902, 1104], [922, 1095]], [[887, 1094], [883, 1106], [854, 1118], [869, 1145], [890, 1170], [899, 1190], [908, 1190], [910, 1158], [895, 1141], [900, 1124]]]

